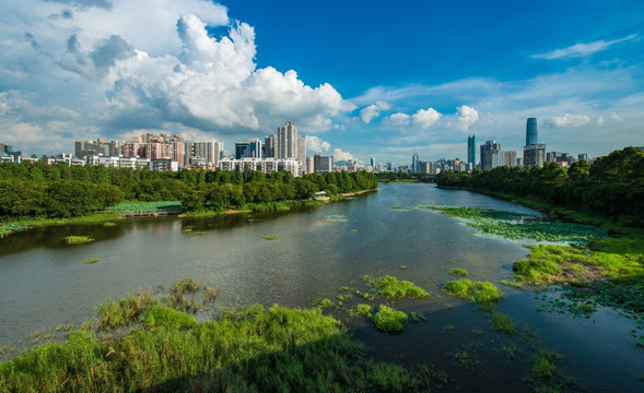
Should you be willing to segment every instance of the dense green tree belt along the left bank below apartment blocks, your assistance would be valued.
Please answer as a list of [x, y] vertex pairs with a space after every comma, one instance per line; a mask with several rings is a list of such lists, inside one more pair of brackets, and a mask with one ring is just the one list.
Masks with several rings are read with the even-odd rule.
[[377, 188], [375, 175], [330, 172], [295, 178], [282, 171], [180, 170], [0, 164], [0, 217], [73, 217], [122, 201], [182, 201], [183, 209], [221, 210], [245, 203], [304, 200]]

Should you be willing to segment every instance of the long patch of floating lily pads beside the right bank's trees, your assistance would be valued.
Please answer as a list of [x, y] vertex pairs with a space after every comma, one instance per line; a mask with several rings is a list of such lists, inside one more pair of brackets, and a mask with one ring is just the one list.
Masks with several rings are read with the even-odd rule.
[[[569, 242], [587, 245], [593, 239], [608, 236], [606, 229], [590, 225], [540, 221], [534, 215], [473, 207], [415, 206], [458, 217], [484, 235], [504, 239]], [[527, 219], [526, 219], [527, 218]]]

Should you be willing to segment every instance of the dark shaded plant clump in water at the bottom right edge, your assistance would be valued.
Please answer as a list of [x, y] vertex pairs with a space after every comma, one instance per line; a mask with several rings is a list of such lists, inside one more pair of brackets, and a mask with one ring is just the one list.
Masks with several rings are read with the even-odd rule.
[[525, 381], [535, 392], [577, 391], [577, 381], [563, 371], [563, 358], [558, 353], [540, 348], [532, 359], [529, 376]]

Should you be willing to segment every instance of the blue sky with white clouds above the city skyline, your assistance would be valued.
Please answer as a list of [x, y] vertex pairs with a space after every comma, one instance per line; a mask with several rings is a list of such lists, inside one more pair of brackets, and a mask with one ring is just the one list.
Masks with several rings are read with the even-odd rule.
[[[0, 143], [235, 141], [336, 160], [644, 145], [641, 0], [0, 0]], [[519, 153], [520, 156], [520, 153]]]

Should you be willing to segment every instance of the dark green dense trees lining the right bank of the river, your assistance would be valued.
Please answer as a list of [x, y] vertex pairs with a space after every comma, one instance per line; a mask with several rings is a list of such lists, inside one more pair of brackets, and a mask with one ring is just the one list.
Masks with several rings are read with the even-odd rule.
[[442, 172], [437, 184], [492, 191], [567, 206], [644, 227], [644, 152], [635, 147], [614, 151], [597, 158], [561, 168], [555, 163], [543, 167], [508, 168], [466, 172]]

